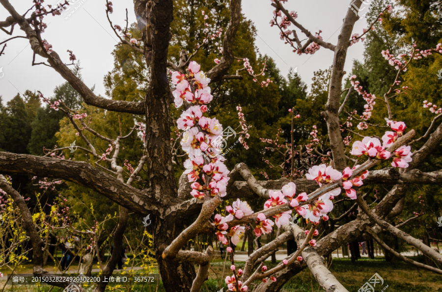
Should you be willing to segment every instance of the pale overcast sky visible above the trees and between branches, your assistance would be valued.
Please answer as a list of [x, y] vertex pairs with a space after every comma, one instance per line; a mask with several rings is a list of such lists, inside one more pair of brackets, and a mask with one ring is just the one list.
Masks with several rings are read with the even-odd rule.
[[[89, 87], [95, 85], [95, 93], [104, 96], [103, 78], [113, 68], [111, 52], [117, 44], [117, 38], [106, 19], [106, 1], [70, 1], [72, 3], [70, 9], [64, 11], [62, 16], [45, 17], [48, 28], [42, 37], [53, 45], [53, 49], [65, 63], [69, 62], [69, 54], [66, 50], [73, 50], [77, 60], [81, 62], [85, 84]], [[21, 14], [32, 6], [31, 0], [10, 0], [10, 2]], [[57, 2], [58, 0], [45, 1], [47, 4], [54, 5]], [[330, 67], [333, 52], [324, 48], [319, 49], [314, 55], [299, 56], [292, 52], [291, 47], [284, 45], [284, 42], [279, 39], [278, 28], [271, 27], [269, 24], [273, 15], [273, 7], [270, 4], [270, 0], [242, 1], [243, 13], [253, 21], [257, 28], [256, 47], [260, 53], [275, 59], [276, 65], [284, 76], [287, 75], [290, 67], [298, 67], [297, 71], [301, 78], [310, 84], [314, 71]], [[285, 7], [289, 11], [296, 11], [299, 15], [297, 21], [312, 33], [321, 29], [324, 40], [336, 44], [349, 4], [349, 0], [291, 0], [285, 3]], [[114, 12], [111, 14], [111, 20], [114, 24], [124, 25], [125, 8], [129, 11], [129, 22], [135, 22], [132, 0], [113, 1], [113, 7]], [[365, 8], [368, 10], [368, 7]], [[6, 19], [7, 16], [9, 14], [0, 5], [0, 20]], [[356, 23], [354, 32], [361, 33], [366, 26], [365, 19], [362, 18]], [[24, 33], [16, 25], [13, 35], [24, 35]], [[9, 37], [0, 31], [0, 42]], [[350, 47], [345, 64], [347, 72], [350, 72], [354, 59], [362, 59], [362, 53], [363, 45], [361, 43]], [[38, 56], [36, 58], [38, 61], [43, 60]], [[32, 50], [28, 40], [18, 38], [7, 43], [5, 55], [0, 56], [0, 68], [3, 71], [0, 73], [0, 77], [2, 76], [0, 78], [0, 96], [2, 96], [3, 102], [10, 100], [17, 93], [24, 93], [27, 89], [39, 90], [49, 97], [53, 95], [55, 86], [65, 82], [54, 69], [44, 65], [31, 66], [31, 64]], [[258, 71], [258, 68], [254, 69]]]

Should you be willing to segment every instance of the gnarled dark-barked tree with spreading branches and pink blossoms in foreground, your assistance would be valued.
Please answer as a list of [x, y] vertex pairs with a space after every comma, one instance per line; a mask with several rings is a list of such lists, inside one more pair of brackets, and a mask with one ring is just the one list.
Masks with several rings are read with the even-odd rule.
[[[34, 55], [43, 58], [45, 65], [52, 67], [65, 78], [80, 93], [85, 103], [107, 111], [145, 117], [145, 125], [139, 124], [136, 127], [142, 132], [140, 139], [144, 142], [144, 155], [139, 158], [135, 169], [125, 163], [130, 171], [130, 174], [126, 175], [123, 166], [119, 164], [118, 155], [123, 150], [120, 149], [120, 141], [128, 135], [105, 137], [85, 122], [87, 115], [84, 113], [69, 109], [62, 100], [51, 103], [41, 95], [44, 101], [50, 103], [51, 108], [62, 110], [69, 118], [77, 130], [77, 135], [88, 146], [80, 150], [106, 164], [97, 163], [94, 167], [84, 162], [65, 160], [62, 156], [55, 154], [64, 148], [53, 149], [44, 157], [0, 152], [0, 173], [52, 177], [94, 190], [120, 205], [119, 222], [115, 231], [119, 235], [124, 233], [129, 211], [142, 215], [153, 214], [153, 243], [156, 260], [168, 292], [197, 292], [207, 279], [213, 248], [209, 246], [205, 252], [183, 250], [189, 240], [198, 234], [211, 233], [215, 234], [223, 244], [231, 241], [236, 245], [243, 237], [245, 230], [249, 228], [253, 230], [256, 237], [269, 234], [274, 228], [280, 232], [275, 240], [258, 248], [249, 256], [244, 269], [238, 269], [235, 266], [233, 250], [230, 247], [227, 248], [231, 255], [231, 275], [227, 276], [224, 281], [229, 291], [276, 292], [304, 268], [310, 269], [325, 291], [347, 291], [324, 265], [323, 257], [329, 256], [341, 245], [352, 242], [364, 234], [371, 235], [380, 245], [402, 260], [442, 274], [439, 268], [416, 263], [398, 254], [377, 236], [381, 229], [389, 231], [421, 250], [439, 266], [442, 264], [441, 254], [404, 233], [398, 226], [387, 222], [388, 218], [402, 211], [403, 206], [401, 207], [400, 202], [409, 184], [441, 182], [442, 170], [430, 173], [419, 170], [432, 150], [442, 142], [442, 124], [436, 124], [441, 116], [441, 109], [423, 101], [424, 107], [430, 107], [438, 116], [434, 118], [425, 135], [414, 139], [415, 131], [407, 129], [407, 121], [395, 121], [399, 118], [394, 117], [394, 109], [391, 108], [389, 102], [390, 98], [406, 94], [409, 90], [406, 86], [399, 86], [399, 79], [410, 62], [429, 54], [442, 54], [441, 45], [422, 51], [413, 47], [410, 53], [401, 55], [399, 58], [394, 57], [388, 51], [383, 51], [382, 54], [397, 70], [396, 79], [392, 80], [384, 98], [375, 97], [363, 91], [357, 81], [357, 76], [352, 76], [350, 78], [352, 87], [345, 90], [348, 94], [341, 102], [340, 97], [345, 92], [342, 91], [342, 78], [345, 74], [343, 69], [347, 50], [353, 44], [363, 41], [364, 35], [370, 33], [373, 24], [364, 29], [361, 35], [354, 33], [353, 27], [359, 20], [359, 16], [353, 8], [343, 11], [345, 18], [337, 43], [328, 43], [321, 37], [321, 31], [313, 34], [304, 25], [298, 23], [297, 13], [289, 12], [284, 7], [286, 2], [287, 0], [271, 1], [274, 14], [270, 24], [279, 28], [281, 39], [297, 54], [314, 54], [319, 49], [329, 49], [334, 53], [331, 62], [329, 96], [326, 110], [322, 112], [327, 122], [331, 152], [319, 153], [321, 159], [313, 159], [313, 164], [305, 162], [304, 165], [308, 165], [305, 177], [304, 173], [300, 175], [300, 172], [297, 172], [297, 167], [300, 167], [299, 164], [302, 161], [312, 157], [313, 150], [318, 151], [316, 146], [319, 141], [315, 137], [316, 129], [313, 130], [311, 144], [306, 146], [305, 151], [302, 149], [295, 151], [293, 141], [288, 141], [286, 144], [287, 151], [284, 155], [287, 156], [284, 156], [284, 161], [290, 165], [289, 178], [257, 181], [244, 163], [237, 164], [231, 170], [227, 169], [220, 145], [225, 138], [223, 125], [216, 117], [207, 117], [208, 107], [214, 98], [211, 94], [211, 84], [225, 79], [241, 82], [243, 78], [248, 77], [258, 81], [265, 73], [264, 67], [259, 74], [255, 74], [249, 60], [233, 55], [232, 46], [241, 18], [241, 0], [230, 0], [230, 21], [224, 32], [222, 47], [219, 47], [221, 59], [215, 59], [216, 65], [207, 72], [203, 72], [201, 66], [192, 58], [209, 42], [209, 39], [221, 37], [222, 29], [210, 35], [209, 29], [205, 28], [206, 37], [201, 40], [200, 46], [191, 55], [183, 50], [179, 63], [174, 64], [167, 60], [167, 49], [171, 39], [169, 26], [173, 21], [172, 0], [134, 0], [138, 28], [141, 31], [140, 39], [133, 37], [127, 26], [122, 28], [111, 23], [113, 6], [111, 2], [106, 1], [106, 13], [120, 44], [129, 46], [135, 53], [141, 54], [149, 70], [148, 93], [141, 102], [117, 101], [96, 96], [68, 69], [62, 57], [50, 45], [50, 41], [42, 37], [46, 28], [45, 19], [51, 15], [54, 17], [59, 15], [60, 10], [69, 4], [67, 1], [57, 7], [52, 7], [44, 5], [43, 1], [34, 0], [32, 8], [21, 15], [17, 7], [14, 7], [8, 0], [0, 0], [2, 6], [10, 14], [6, 20], [0, 22], [2, 31], [12, 34], [13, 28], [18, 25], [26, 34]], [[355, 2], [353, 7], [359, 8], [361, 4], [362, 2]], [[382, 15], [391, 11], [391, 6], [385, 7], [376, 21], [382, 21]], [[27, 16], [29, 12], [30, 15]], [[207, 19], [207, 14], [204, 19]], [[294, 28], [289, 29], [292, 25]], [[304, 34], [306, 39], [303, 41], [298, 34]], [[4, 49], [3, 47], [2, 52]], [[69, 50], [68, 52], [69, 60], [75, 61], [74, 53]], [[235, 59], [244, 61], [244, 69], [236, 71], [235, 74], [228, 74]], [[33, 65], [37, 64], [39, 63], [33, 62]], [[171, 70], [170, 73], [169, 70]], [[242, 71], [245, 71], [247, 75], [240, 74]], [[272, 80], [267, 78], [257, 84], [267, 87], [271, 82]], [[348, 113], [344, 110], [352, 90], [356, 90], [367, 102], [362, 115], [358, 116], [355, 111]], [[342, 137], [342, 128], [346, 125], [350, 131], [354, 132], [350, 125], [353, 119], [360, 121], [358, 130], [375, 126], [368, 120], [376, 100], [381, 100], [380, 102], [387, 107], [387, 126], [391, 128], [391, 131], [386, 131], [382, 138], [365, 137], [358, 133], [357, 136], [361, 136], [360, 139], [351, 144], [348, 137]], [[171, 143], [171, 106], [182, 110], [176, 124], [181, 130], [181, 149], [187, 156], [184, 162], [186, 170], [181, 175], [178, 186], [175, 183], [172, 166], [177, 150]], [[248, 126], [240, 107], [239, 111], [244, 130], [240, 133], [241, 144], [247, 146], [245, 139], [248, 137]], [[295, 115], [291, 109], [290, 111], [292, 121], [296, 118], [303, 118]], [[134, 127], [130, 134], [136, 128]], [[292, 126], [292, 133], [295, 130]], [[92, 133], [109, 142], [106, 153], [101, 155], [97, 153], [83, 132]], [[425, 142], [423, 146], [413, 151], [412, 145], [417, 141]], [[295, 164], [295, 156], [299, 156], [298, 165]], [[387, 167], [373, 170], [376, 165]], [[390, 166], [399, 171], [393, 170]], [[148, 175], [149, 187], [146, 189], [131, 186], [141, 170], [146, 171]], [[302, 176], [302, 178], [294, 179], [296, 176]], [[24, 228], [34, 250], [34, 274], [47, 273], [43, 268], [41, 252], [44, 242], [32, 220], [28, 206], [22, 195], [9, 185], [4, 176], [0, 178], [3, 195], [14, 201], [24, 220]], [[359, 193], [359, 188], [362, 185], [375, 183], [390, 184], [393, 187], [375, 208], [370, 208]], [[359, 215], [352, 222], [317, 239], [319, 235], [317, 229], [320, 224], [329, 220], [331, 216], [336, 216], [331, 215], [331, 212], [333, 200], [337, 196], [346, 196], [354, 200], [355, 206], [359, 207]], [[252, 210], [246, 202], [246, 199], [250, 197], [265, 198], [266, 202], [261, 208]], [[225, 209], [227, 216], [215, 212], [224, 199], [233, 199], [233, 203]], [[354, 210], [353, 207], [352, 209]], [[305, 228], [292, 224], [289, 220], [292, 216], [304, 218]], [[192, 219], [189, 224], [188, 219]], [[378, 228], [374, 228], [375, 224]], [[278, 246], [293, 239], [298, 244], [296, 252], [287, 256], [275, 268], [267, 268], [263, 265], [263, 260]], [[120, 247], [121, 244], [122, 236], [115, 236], [115, 248]], [[117, 253], [114, 254], [115, 256], [112, 255], [106, 267], [103, 267], [104, 274], [113, 272], [117, 260]], [[198, 266], [197, 272], [195, 272], [194, 264]], [[69, 283], [60, 282], [55, 285], [66, 287]], [[96, 290], [104, 291], [105, 288], [106, 284], [100, 283]]]

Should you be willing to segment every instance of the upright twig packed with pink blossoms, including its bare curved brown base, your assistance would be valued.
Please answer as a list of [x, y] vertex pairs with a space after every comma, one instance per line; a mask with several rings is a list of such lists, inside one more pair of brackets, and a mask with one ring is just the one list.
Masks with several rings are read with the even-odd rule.
[[[208, 222], [213, 211], [220, 205], [221, 197], [225, 194], [229, 171], [222, 163], [223, 157], [217, 151], [217, 139], [222, 134], [222, 126], [217, 119], [208, 119], [203, 116], [207, 111], [205, 104], [212, 100], [210, 79], [200, 71], [200, 65], [192, 61], [187, 74], [172, 73], [172, 82], [176, 84], [173, 91], [175, 106], [180, 107], [184, 100], [187, 101], [186, 110], [178, 119], [178, 128], [184, 130], [181, 146], [188, 153], [189, 159], [184, 163], [188, 179], [192, 184], [191, 195], [204, 199], [201, 213], [191, 226], [186, 228], [163, 252], [163, 258], [175, 258], [181, 247], [191, 238], [196, 236]], [[193, 103], [190, 106], [189, 103]], [[203, 151], [214, 155], [203, 157]], [[196, 182], [201, 179], [203, 184]], [[203, 192], [200, 192], [203, 191]], [[222, 225], [221, 216], [215, 224]], [[217, 223], [218, 222], [218, 223]], [[215, 225], [214, 224], [214, 225]], [[222, 227], [220, 227], [222, 228]], [[237, 227], [238, 228], [238, 227]], [[221, 229], [225, 232], [226, 229]]]

